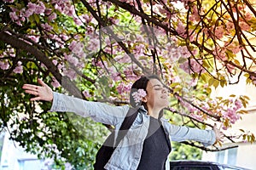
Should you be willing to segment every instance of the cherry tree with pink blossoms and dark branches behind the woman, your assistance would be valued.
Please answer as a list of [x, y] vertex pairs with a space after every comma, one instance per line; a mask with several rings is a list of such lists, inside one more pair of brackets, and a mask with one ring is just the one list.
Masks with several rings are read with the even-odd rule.
[[[212, 87], [241, 77], [255, 84], [256, 12], [247, 0], [3, 0], [0, 10], [1, 125], [27, 150], [40, 148], [42, 157], [72, 161], [68, 153], [79, 153], [88, 160], [71, 163], [90, 167], [84, 144], [87, 153], [96, 152], [93, 141], [108, 132], [100, 134], [103, 127], [90, 120], [70, 119], [71, 113], [49, 114], [49, 104], [29, 102], [20, 87], [38, 77], [62, 93], [124, 105], [134, 80], [157, 74], [172, 97], [167, 117], [174, 113], [191, 126], [212, 127], [213, 121], [228, 129], [247, 113], [247, 96], [209, 97]], [[95, 133], [87, 132], [86, 142], [84, 126]], [[244, 130], [238, 137], [255, 141]]]

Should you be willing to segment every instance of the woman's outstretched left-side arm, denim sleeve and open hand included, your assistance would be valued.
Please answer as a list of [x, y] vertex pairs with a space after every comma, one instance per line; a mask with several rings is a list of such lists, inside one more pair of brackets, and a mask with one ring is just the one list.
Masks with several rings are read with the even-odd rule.
[[113, 106], [100, 102], [86, 101], [73, 98], [65, 94], [58, 94], [52, 91], [47, 84], [38, 79], [41, 86], [24, 84], [23, 89], [27, 94], [35, 95], [31, 100], [45, 100], [52, 102], [50, 111], [73, 112], [79, 116], [90, 116], [96, 122], [109, 125], [117, 125], [125, 118], [129, 106]]

